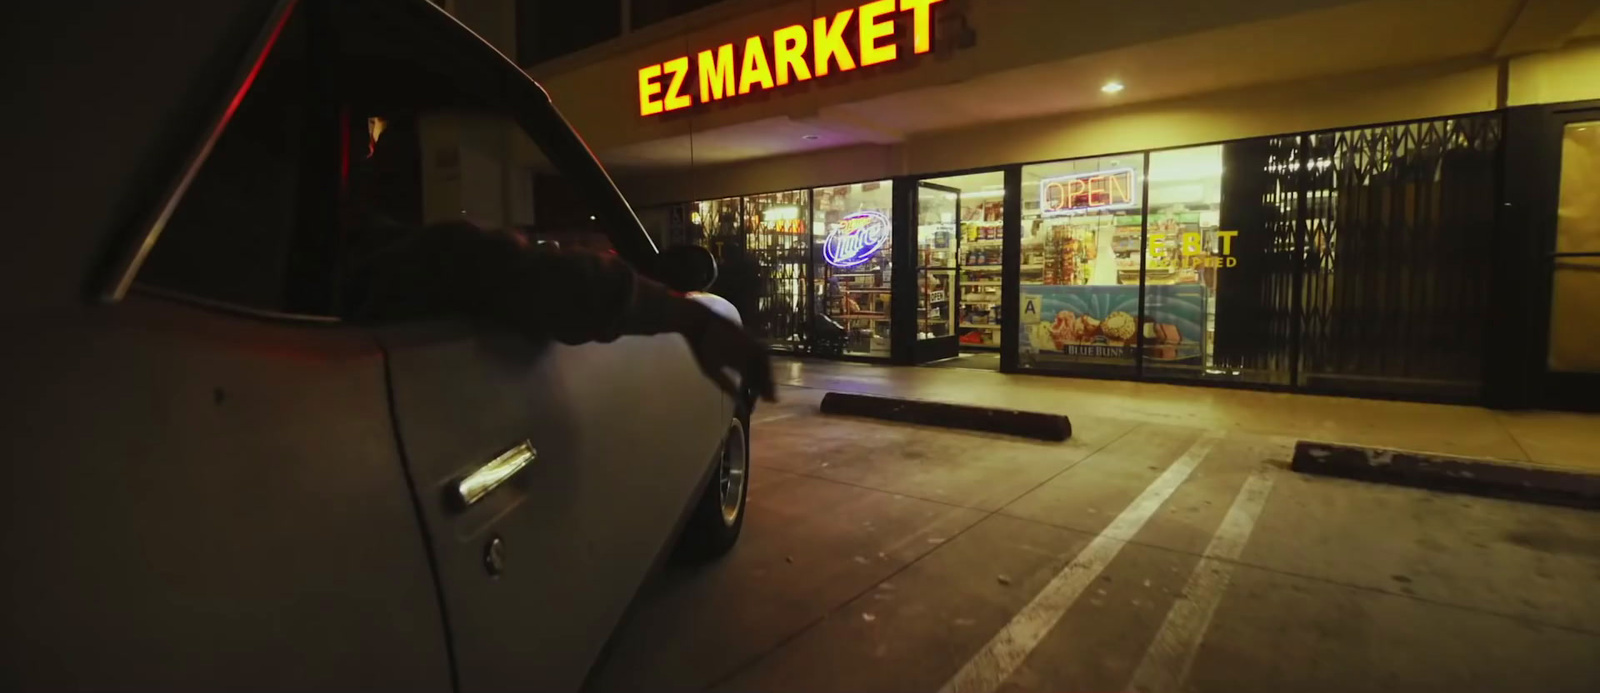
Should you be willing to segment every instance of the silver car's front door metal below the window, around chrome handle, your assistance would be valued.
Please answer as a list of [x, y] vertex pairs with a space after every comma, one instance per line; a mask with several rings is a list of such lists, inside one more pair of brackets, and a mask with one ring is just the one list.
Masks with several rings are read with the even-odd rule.
[[[677, 336], [562, 346], [458, 323], [381, 330], [462, 691], [574, 690], [726, 424]], [[461, 483], [526, 445], [475, 503]]]

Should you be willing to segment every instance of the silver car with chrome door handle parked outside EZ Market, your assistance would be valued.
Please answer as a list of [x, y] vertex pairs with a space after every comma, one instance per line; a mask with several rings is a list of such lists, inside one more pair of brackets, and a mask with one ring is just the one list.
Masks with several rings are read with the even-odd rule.
[[504, 219], [517, 195], [462, 178], [506, 162], [534, 216], [670, 274], [547, 94], [446, 13], [8, 24], [0, 690], [574, 690], [664, 555], [733, 546], [752, 402], [680, 336], [346, 318], [362, 186]]

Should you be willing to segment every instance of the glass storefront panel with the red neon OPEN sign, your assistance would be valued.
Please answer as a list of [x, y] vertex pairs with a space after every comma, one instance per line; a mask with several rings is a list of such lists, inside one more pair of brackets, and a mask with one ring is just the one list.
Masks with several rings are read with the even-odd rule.
[[1018, 367], [1131, 375], [1144, 155], [1022, 166]]

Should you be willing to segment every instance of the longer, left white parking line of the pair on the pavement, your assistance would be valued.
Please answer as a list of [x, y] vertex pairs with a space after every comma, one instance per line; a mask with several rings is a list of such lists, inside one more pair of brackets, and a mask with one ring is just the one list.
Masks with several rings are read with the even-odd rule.
[[955, 672], [939, 693], [992, 693], [1022, 666], [1027, 655], [1061, 621], [1067, 608], [1094, 583], [1106, 565], [1117, 557], [1126, 539], [1133, 539], [1162, 503], [1189, 479], [1189, 472], [1205, 459], [1221, 434], [1208, 432], [1195, 440], [1139, 498], [1117, 515], [1090, 546], [1058, 573], [1027, 607], [1022, 607], [994, 639]]

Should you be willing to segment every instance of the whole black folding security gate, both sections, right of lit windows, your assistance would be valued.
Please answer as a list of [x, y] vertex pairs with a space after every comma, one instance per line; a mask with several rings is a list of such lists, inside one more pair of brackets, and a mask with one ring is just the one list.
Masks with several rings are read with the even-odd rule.
[[1240, 266], [1216, 367], [1314, 392], [1477, 400], [1501, 115], [1229, 142]]

